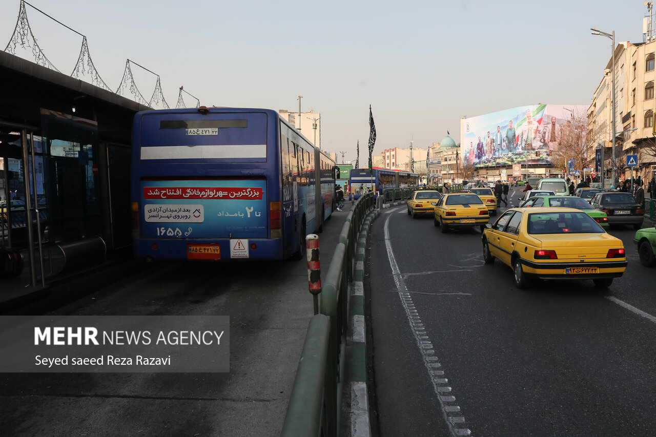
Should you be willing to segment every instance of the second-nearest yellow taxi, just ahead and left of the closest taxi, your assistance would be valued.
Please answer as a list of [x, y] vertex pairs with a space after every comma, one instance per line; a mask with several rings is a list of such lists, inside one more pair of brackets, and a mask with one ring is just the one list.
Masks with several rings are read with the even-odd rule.
[[452, 226], [483, 226], [489, 217], [487, 207], [476, 194], [447, 193], [435, 205], [433, 224], [447, 232]]

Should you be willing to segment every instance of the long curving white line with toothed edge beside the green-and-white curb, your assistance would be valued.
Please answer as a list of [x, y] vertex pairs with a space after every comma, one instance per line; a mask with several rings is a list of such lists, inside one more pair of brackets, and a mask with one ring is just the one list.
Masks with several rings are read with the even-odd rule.
[[390, 260], [390, 267], [392, 268], [392, 276], [394, 277], [396, 289], [398, 289], [401, 305], [405, 310], [405, 316], [415, 337], [415, 342], [424, 361], [426, 371], [428, 371], [428, 377], [433, 385], [436, 398], [438, 398], [438, 402], [440, 403], [442, 417], [449, 428], [451, 437], [469, 436], [472, 432], [464, 425], [464, 417], [460, 414], [460, 407], [455, 403], [455, 396], [444, 396], [447, 393], [451, 394], [451, 387], [446, 385], [447, 379], [444, 377], [444, 371], [436, 370], [436, 367], [441, 367], [441, 364], [437, 362], [438, 358], [434, 356], [435, 350], [432, 349], [432, 342], [428, 339], [424, 324], [421, 322], [417, 310], [415, 310], [415, 303], [410, 293], [408, 293], [403, 275], [399, 270], [398, 264], [396, 264], [394, 251], [392, 251], [392, 242], [390, 241], [390, 217], [392, 216], [388, 215], [385, 220], [384, 238], [385, 246], [387, 247], [387, 256]]

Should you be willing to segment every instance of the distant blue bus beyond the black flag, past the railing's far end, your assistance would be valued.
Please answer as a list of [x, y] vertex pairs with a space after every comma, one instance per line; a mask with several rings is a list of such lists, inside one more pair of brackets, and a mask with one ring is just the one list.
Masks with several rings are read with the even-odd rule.
[[409, 173], [407, 171], [381, 169], [373, 167], [369, 169], [351, 169], [348, 178], [348, 196], [350, 199], [359, 199], [367, 191], [373, 190], [374, 197], [378, 197], [378, 190], [382, 186], [387, 188], [404, 188], [407, 186], [417, 186], [419, 184], [419, 173]]

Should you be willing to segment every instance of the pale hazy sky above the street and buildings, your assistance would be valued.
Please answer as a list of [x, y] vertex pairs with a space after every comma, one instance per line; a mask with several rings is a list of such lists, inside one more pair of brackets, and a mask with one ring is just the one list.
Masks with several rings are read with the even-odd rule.
[[[426, 148], [460, 119], [538, 103], [590, 104], [611, 41], [642, 42], [643, 0], [594, 1], [170, 1], [31, 0], [85, 35], [113, 91], [130, 59], [159, 75], [174, 108], [178, 89], [205, 106], [321, 113], [321, 146], [366, 161], [369, 105], [374, 154]], [[0, 5], [0, 45], [19, 0]], [[46, 56], [70, 74], [82, 38], [26, 7]], [[31, 51], [16, 54], [33, 60]], [[150, 100], [156, 77], [132, 66]], [[184, 94], [187, 106], [195, 100]], [[309, 120], [304, 123], [310, 125]], [[301, 125], [302, 127], [303, 125]], [[310, 132], [302, 129], [312, 140]], [[341, 159], [341, 158], [338, 158]]]

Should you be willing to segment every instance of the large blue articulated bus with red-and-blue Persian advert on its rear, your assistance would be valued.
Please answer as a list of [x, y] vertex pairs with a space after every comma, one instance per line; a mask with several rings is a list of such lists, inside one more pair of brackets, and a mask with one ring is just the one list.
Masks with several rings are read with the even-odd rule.
[[335, 162], [274, 110], [134, 115], [134, 255], [301, 259], [334, 210]]

